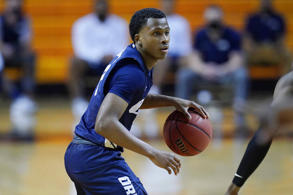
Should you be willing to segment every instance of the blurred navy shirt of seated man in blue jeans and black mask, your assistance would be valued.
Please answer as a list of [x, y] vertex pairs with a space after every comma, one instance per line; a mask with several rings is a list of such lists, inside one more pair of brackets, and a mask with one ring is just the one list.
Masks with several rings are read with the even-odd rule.
[[224, 27], [221, 38], [216, 42], [209, 39], [204, 28], [196, 34], [193, 48], [200, 52], [204, 62], [222, 64], [229, 60], [231, 51], [240, 50], [240, 44], [240, 34], [230, 28]]

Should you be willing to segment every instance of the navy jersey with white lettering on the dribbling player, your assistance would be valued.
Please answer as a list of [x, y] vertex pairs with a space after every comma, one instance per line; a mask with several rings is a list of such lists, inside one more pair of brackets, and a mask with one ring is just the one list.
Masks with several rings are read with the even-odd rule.
[[127, 101], [129, 105], [119, 121], [130, 130], [138, 109], [152, 84], [152, 69], [148, 70], [142, 55], [134, 44], [130, 44], [106, 67], [86, 112], [75, 127], [74, 133], [95, 144], [123, 151], [122, 147], [113, 144], [95, 132], [96, 117], [100, 105], [107, 93], [116, 94]]

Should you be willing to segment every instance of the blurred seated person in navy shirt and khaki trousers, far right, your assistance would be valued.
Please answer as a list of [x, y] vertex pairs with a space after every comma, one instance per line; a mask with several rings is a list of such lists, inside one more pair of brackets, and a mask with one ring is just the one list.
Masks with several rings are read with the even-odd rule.
[[[271, 0], [261, 0], [260, 10], [246, 24], [243, 49], [249, 66], [280, 66], [282, 74], [291, 69], [292, 54], [286, 48], [285, 22], [272, 7]], [[281, 75], [279, 75], [281, 76]]]

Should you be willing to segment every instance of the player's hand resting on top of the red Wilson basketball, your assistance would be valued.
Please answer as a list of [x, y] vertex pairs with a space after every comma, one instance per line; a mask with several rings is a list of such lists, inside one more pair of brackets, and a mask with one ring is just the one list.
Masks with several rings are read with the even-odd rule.
[[202, 115], [203, 118], [209, 118], [209, 113], [207, 113], [207, 111], [205, 111], [205, 109], [202, 106], [198, 105], [193, 101], [176, 98], [175, 102], [176, 103], [174, 107], [176, 108], [176, 110], [182, 112], [188, 120], [191, 119], [191, 116], [187, 111], [188, 108], [194, 108]]

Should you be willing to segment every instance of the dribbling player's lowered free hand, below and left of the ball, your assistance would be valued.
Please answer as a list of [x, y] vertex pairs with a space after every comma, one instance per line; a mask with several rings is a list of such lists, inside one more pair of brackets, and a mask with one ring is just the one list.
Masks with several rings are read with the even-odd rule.
[[169, 175], [172, 174], [172, 169], [174, 174], [177, 175], [181, 168], [180, 159], [170, 152], [155, 149], [149, 159], [158, 167], [166, 169]]

